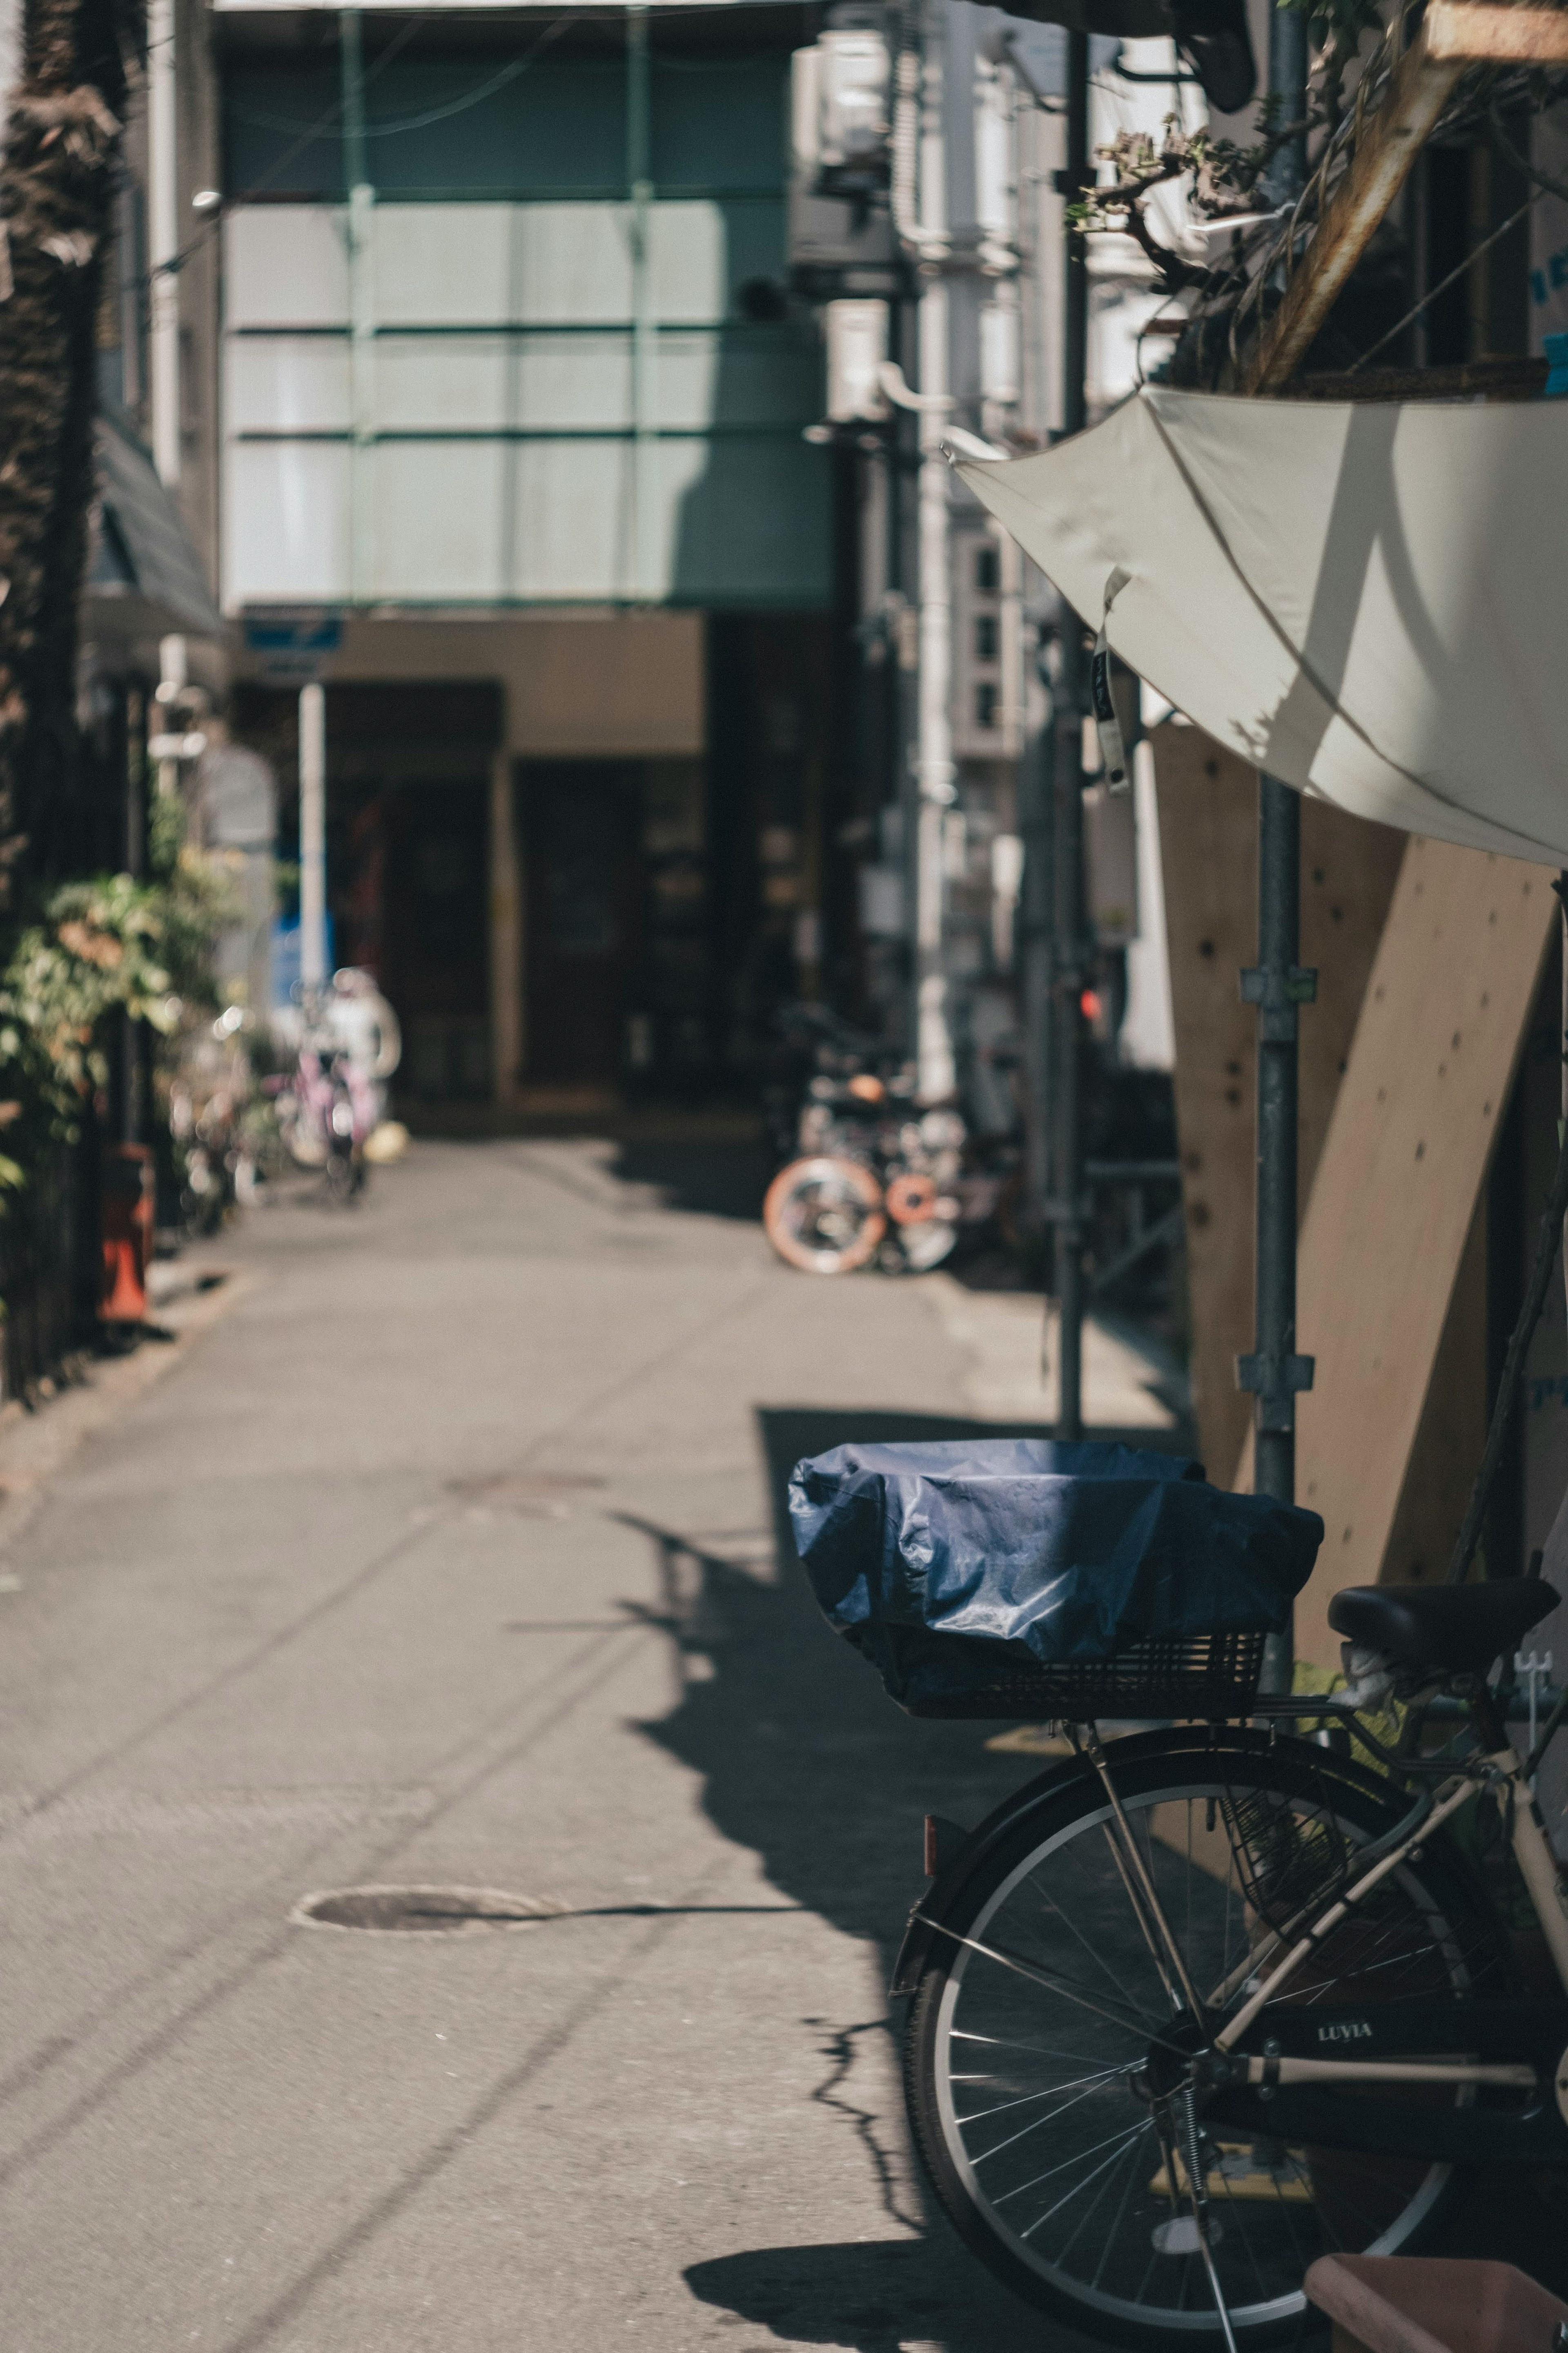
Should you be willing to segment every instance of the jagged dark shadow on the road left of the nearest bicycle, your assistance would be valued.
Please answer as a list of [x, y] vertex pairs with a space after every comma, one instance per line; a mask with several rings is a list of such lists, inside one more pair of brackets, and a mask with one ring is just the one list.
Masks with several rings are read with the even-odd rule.
[[[849, 1407], [769, 1407], [759, 1438], [773, 1499], [776, 1569], [722, 1558], [677, 1529], [635, 1525], [658, 1546], [661, 1619], [686, 1664], [679, 1706], [649, 1739], [703, 1777], [724, 1838], [759, 1854], [783, 1894], [877, 1946], [886, 1984], [910, 1906], [924, 1889], [926, 1812], [976, 1824], [1037, 1769], [985, 1748], [999, 1725], [914, 1722], [872, 1668], [823, 1621], [790, 1541], [785, 1485], [804, 1454], [849, 1438], [1048, 1435], [1039, 1424], [980, 1424]], [[1095, 1433], [1121, 1435], [1121, 1433]], [[1147, 1445], [1152, 1433], [1135, 1433]], [[802, 2009], [811, 1991], [802, 1988]], [[809, 2019], [823, 2035], [818, 2092], [865, 2144], [891, 2228], [931, 2233], [832, 2247], [769, 2247], [693, 2266], [693, 2294], [788, 2344], [884, 2353], [936, 2344], [947, 2353], [1039, 2346], [1032, 2318], [931, 2219], [919, 2198], [903, 2108], [856, 2068], [865, 2035], [889, 2019]], [[877, 2085], [886, 2071], [877, 2071]], [[1053, 2332], [1053, 2344], [1072, 2344]]]

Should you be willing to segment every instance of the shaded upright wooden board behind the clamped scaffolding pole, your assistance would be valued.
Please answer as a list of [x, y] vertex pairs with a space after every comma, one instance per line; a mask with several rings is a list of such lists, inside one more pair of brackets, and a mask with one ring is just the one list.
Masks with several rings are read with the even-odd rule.
[[[1239, 972], [1258, 960], [1258, 772], [1199, 727], [1152, 734], [1175, 1019], [1175, 1125], [1187, 1207], [1192, 1398], [1199, 1452], [1222, 1480], [1248, 1428], [1237, 1355], [1253, 1346], [1258, 1014]], [[1361, 1012], [1403, 833], [1302, 800], [1300, 1198]]]

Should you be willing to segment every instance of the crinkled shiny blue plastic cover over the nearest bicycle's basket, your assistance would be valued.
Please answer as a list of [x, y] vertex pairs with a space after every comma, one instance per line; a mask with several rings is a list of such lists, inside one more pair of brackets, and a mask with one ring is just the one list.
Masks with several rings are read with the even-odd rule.
[[1133, 1642], [1279, 1633], [1324, 1522], [1143, 1447], [980, 1438], [832, 1447], [790, 1475], [827, 1619], [893, 1699]]

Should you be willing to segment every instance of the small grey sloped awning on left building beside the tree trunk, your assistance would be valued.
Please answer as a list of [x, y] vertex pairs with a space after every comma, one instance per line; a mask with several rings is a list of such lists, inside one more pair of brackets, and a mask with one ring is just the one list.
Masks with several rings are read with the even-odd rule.
[[87, 558], [87, 626], [101, 638], [223, 638], [200, 558], [129, 419], [94, 421], [99, 513]]

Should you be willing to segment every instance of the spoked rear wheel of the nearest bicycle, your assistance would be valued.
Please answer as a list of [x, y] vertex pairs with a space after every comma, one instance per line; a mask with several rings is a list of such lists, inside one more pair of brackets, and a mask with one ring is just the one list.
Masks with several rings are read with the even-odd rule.
[[[1185, 1974], [1234, 2009], [1274, 1929], [1321, 1908], [1403, 1812], [1307, 1741], [1110, 1751], [1131, 1840]], [[1218, 2346], [1185, 2151], [1147, 2104], [1152, 2047], [1182, 2021], [1128, 1892], [1098, 1781], [1016, 1800], [1018, 1821], [931, 1918], [905, 2092], [933, 2188], [969, 2247], [1030, 2304], [1128, 2346]], [[1467, 1998], [1509, 1979], [1502, 1939], [1441, 1842], [1406, 1861], [1284, 1991], [1291, 2002]], [[1190, 2024], [1190, 2021], [1187, 2021]], [[1356, 2094], [1345, 2094], [1356, 2097]], [[1467, 2089], [1436, 2089], [1467, 2101]], [[1410, 2252], [1458, 2193], [1425, 2158], [1201, 2129], [1213, 2254], [1239, 2344], [1295, 2337], [1319, 2254]], [[1171, 2179], [1175, 2174], [1175, 2179]]]

